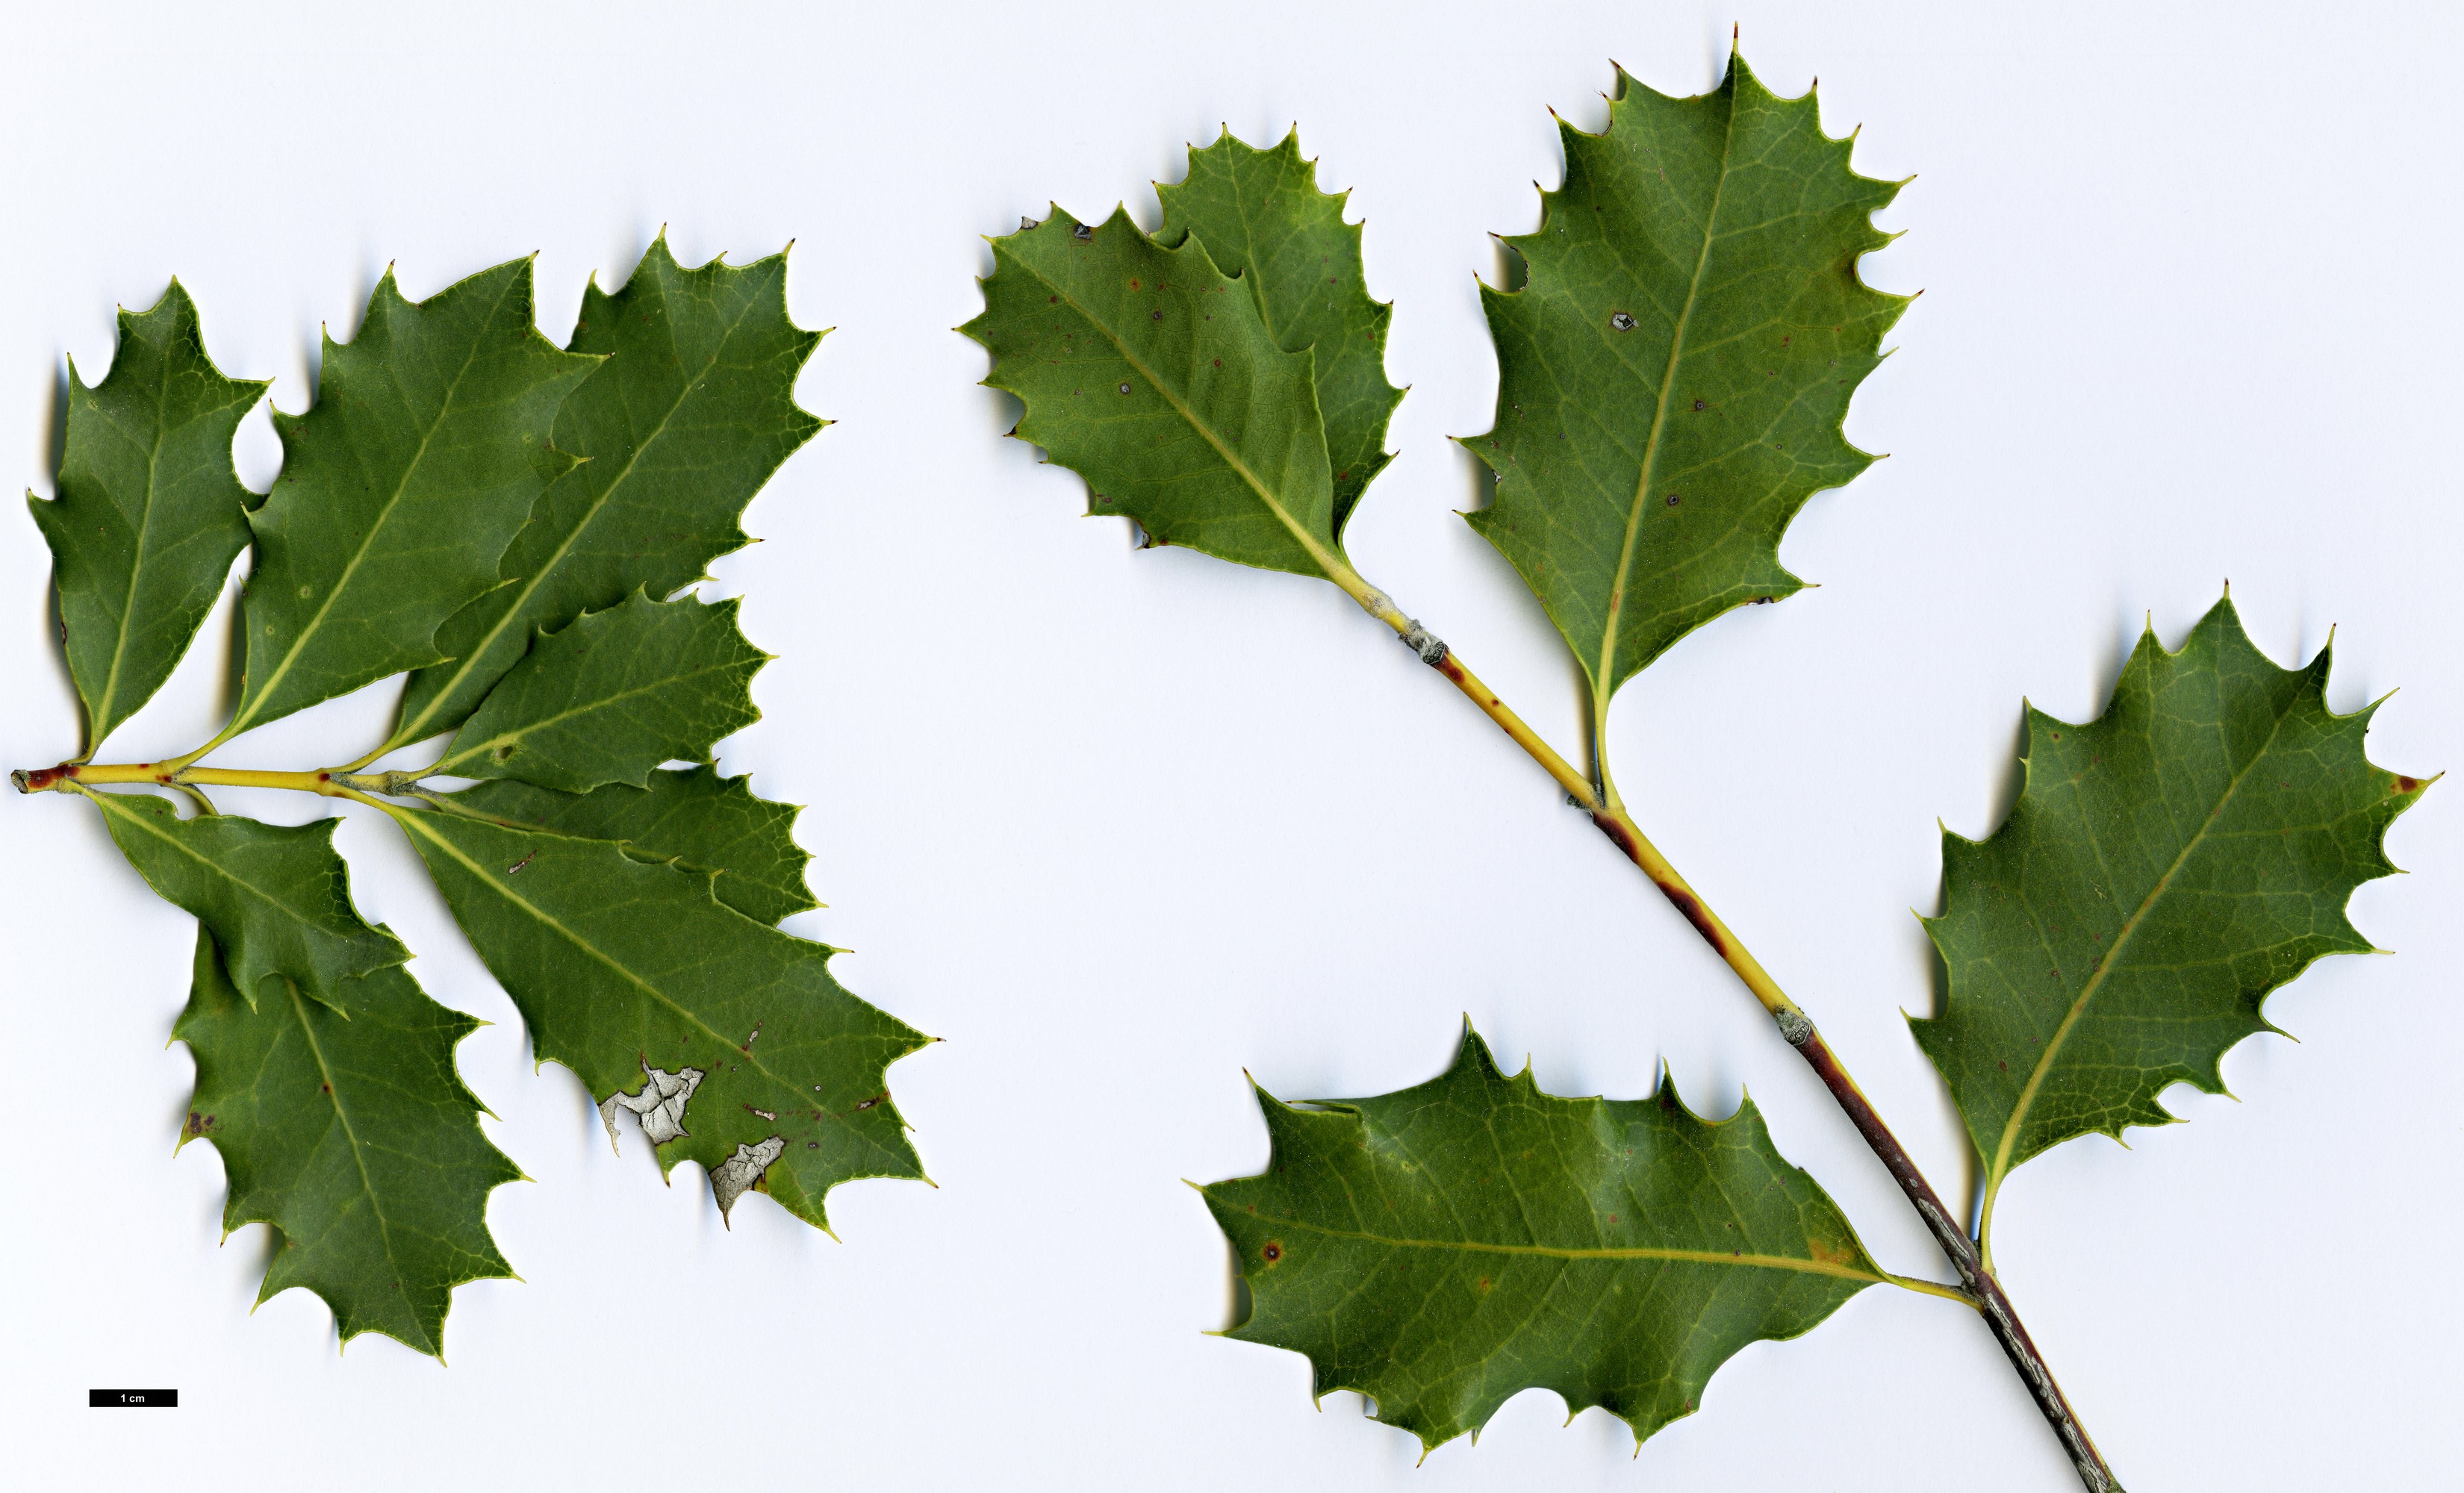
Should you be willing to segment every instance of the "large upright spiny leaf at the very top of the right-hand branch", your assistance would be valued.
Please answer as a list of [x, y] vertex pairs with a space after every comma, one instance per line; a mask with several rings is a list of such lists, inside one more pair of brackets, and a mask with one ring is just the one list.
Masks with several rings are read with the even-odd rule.
[[1481, 288], [1498, 416], [1469, 446], [1498, 488], [1469, 517], [1604, 705], [1693, 628], [1804, 586], [1779, 535], [1873, 463], [1841, 419], [1907, 305], [1858, 278], [1900, 187], [1735, 54], [1700, 99], [1619, 71], [1609, 128], [1560, 136], [1565, 185], [1508, 239], [1523, 288]]

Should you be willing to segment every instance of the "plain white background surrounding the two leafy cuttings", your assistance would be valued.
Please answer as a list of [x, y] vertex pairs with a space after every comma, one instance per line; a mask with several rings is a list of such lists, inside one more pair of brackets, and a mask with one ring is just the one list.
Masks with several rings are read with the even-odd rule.
[[[1942, 1276], [1882, 1170], [1772, 1025], [1619, 855], [1331, 586], [1079, 520], [1082, 483], [1003, 441], [949, 328], [978, 234], [1060, 200], [1153, 222], [1148, 182], [1217, 123], [1291, 121], [1368, 219], [1395, 301], [1402, 453], [1350, 530], [1363, 572], [1560, 744], [1574, 668], [1451, 510], [1496, 362], [1473, 276], [1555, 182], [1550, 108], [1599, 128], [1609, 59], [1710, 86], [1742, 20], [1781, 94], [1821, 74], [1855, 163], [1922, 172], [1868, 261], [1924, 288], [1848, 434], [1895, 453], [1816, 498], [1821, 581], [1732, 613], [1616, 702], [1646, 828], [1831, 1035], [1900, 1136], [1974, 1163], [1900, 1013], [1937, 1000], [1910, 909], [1937, 815], [2008, 806], [2020, 697], [2094, 714], [2144, 616], [2178, 641], [2230, 577], [2289, 663], [2341, 626], [2331, 702], [2405, 685], [2380, 764], [2464, 761], [2454, 596], [2457, 12], [2439, 5], [838, 5], [12, 7], [0, 32], [0, 421], [52, 493], [64, 357], [177, 273], [222, 367], [310, 402], [392, 261], [411, 296], [537, 251], [545, 330], [658, 227], [692, 264], [796, 239], [835, 325], [798, 387], [840, 421], [717, 567], [781, 653], [729, 771], [808, 803], [793, 926], [865, 998], [944, 1035], [892, 1072], [939, 1188], [830, 1197], [843, 1242], [700, 1173], [611, 1155], [399, 838], [345, 811], [362, 909], [421, 983], [495, 1025], [461, 1050], [537, 1178], [490, 1224], [525, 1281], [466, 1286], [451, 1367], [335, 1355], [320, 1301], [254, 1316], [266, 1232], [217, 1247], [222, 1165], [172, 1158], [163, 1047], [190, 919], [64, 798], [0, 801], [0, 1431], [20, 1488], [2043, 1488], [2075, 1486], [1981, 1325], [1875, 1289], [1740, 1353], [1634, 1456], [1545, 1392], [1478, 1446], [1311, 1409], [1301, 1357], [1205, 1338], [1227, 1252], [1180, 1178], [1252, 1173], [1242, 1069], [1286, 1096], [1414, 1084], [1464, 1013], [1562, 1094], [1742, 1089], [1895, 1269]], [[254, 414], [241, 475], [278, 446]], [[0, 756], [74, 749], [49, 559], [0, 512]], [[227, 623], [113, 742], [205, 739]], [[320, 766], [392, 685], [256, 732], [229, 766]], [[232, 793], [298, 820], [310, 801]], [[2333, 958], [2225, 1062], [2240, 1101], [2062, 1146], [2003, 1195], [1998, 1256], [2139, 1491], [2417, 1488], [2464, 1454], [2454, 916], [2464, 798], [2365, 887], [2395, 958]], [[2444, 909], [2444, 912], [2442, 912]], [[175, 1385], [168, 1414], [89, 1385]]]

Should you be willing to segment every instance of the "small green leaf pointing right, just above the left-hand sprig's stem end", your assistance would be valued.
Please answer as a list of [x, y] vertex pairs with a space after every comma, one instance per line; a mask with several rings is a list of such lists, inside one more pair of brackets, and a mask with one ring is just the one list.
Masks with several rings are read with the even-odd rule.
[[574, 618], [540, 638], [436, 761], [463, 779], [522, 779], [586, 793], [700, 761], [756, 719], [752, 678], [769, 663], [737, 628], [737, 601], [650, 601]]

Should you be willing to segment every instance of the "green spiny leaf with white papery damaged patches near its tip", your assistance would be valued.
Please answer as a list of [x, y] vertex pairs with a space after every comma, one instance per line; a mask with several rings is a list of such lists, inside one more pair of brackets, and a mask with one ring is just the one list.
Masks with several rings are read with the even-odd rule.
[[855, 1178], [922, 1178], [887, 1067], [929, 1037], [848, 995], [830, 949], [724, 907], [715, 877], [609, 840], [397, 811], [542, 1062], [582, 1077], [616, 1138], [697, 1160], [719, 1212], [761, 1188], [828, 1227]]

